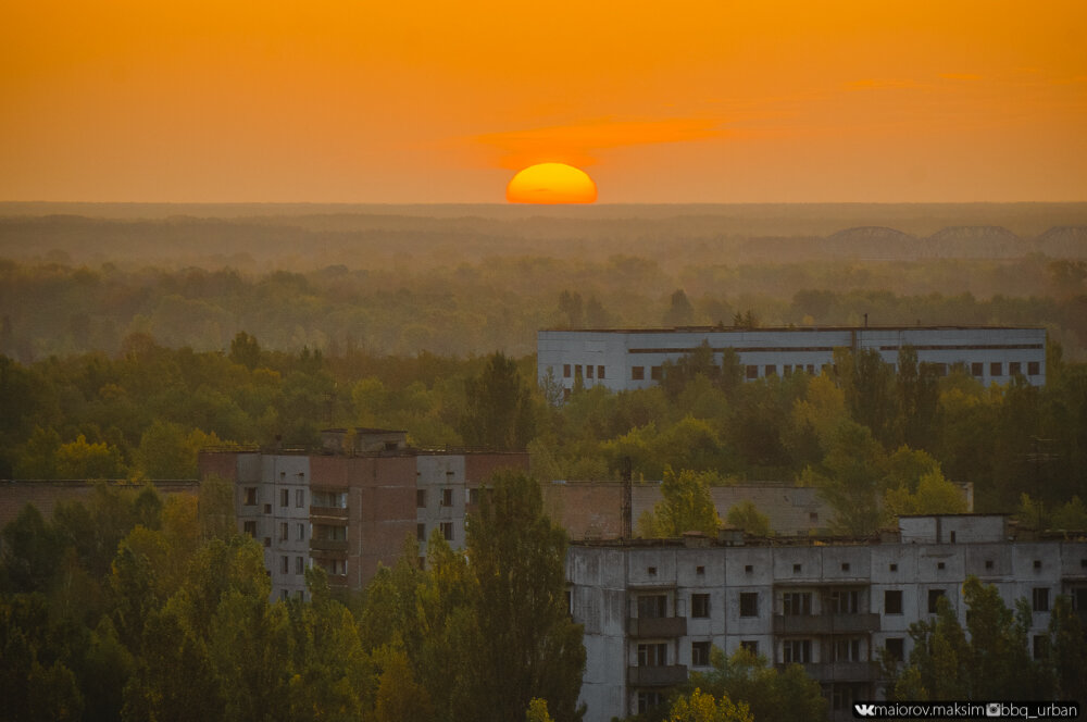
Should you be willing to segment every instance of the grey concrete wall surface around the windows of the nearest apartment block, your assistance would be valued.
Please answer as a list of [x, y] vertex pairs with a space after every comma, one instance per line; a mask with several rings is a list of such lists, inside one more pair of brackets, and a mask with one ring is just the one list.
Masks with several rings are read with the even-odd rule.
[[[984, 518], [977, 521], [980, 526], [990, 523]], [[1087, 542], [960, 543], [957, 538], [954, 544], [773, 547], [572, 545], [567, 580], [574, 620], [585, 624], [588, 655], [582, 687], [582, 701], [588, 706], [586, 722], [605, 722], [637, 711], [638, 688], [627, 684], [627, 668], [637, 665], [638, 644], [647, 640], [632, 636], [625, 619], [637, 614], [639, 596], [664, 594], [669, 614], [686, 617], [683, 634], [648, 640], [667, 645], [669, 664], [692, 669], [692, 645], [704, 642], [726, 653], [741, 643], [755, 643], [771, 662], [782, 663], [786, 640], [808, 639], [809, 673], [822, 679], [827, 694], [845, 690], [854, 698], [875, 697], [880, 688], [871, 662], [878, 659], [879, 649], [888, 639], [901, 640], [909, 658], [909, 626], [930, 618], [929, 593], [934, 590], [944, 594], [960, 623], [965, 624], [962, 585], [978, 569], [986, 573], [982, 581], [995, 584], [1009, 607], [1021, 598], [1032, 603], [1037, 597], [1048, 601], [1048, 608], [1033, 612], [1028, 631], [1028, 638], [1033, 638], [1047, 633], [1048, 610], [1057, 595], [1087, 594]], [[832, 595], [842, 590], [858, 593], [855, 614], [846, 620], [845, 628], [838, 615], [833, 615], [839, 621], [838, 631], [820, 627], [830, 624]], [[784, 598], [791, 592], [811, 594], [812, 617], [798, 621], [800, 631], [788, 633], [786, 627], [775, 630], [775, 624], [783, 619]], [[887, 607], [888, 593], [900, 594], [901, 611]], [[709, 617], [691, 617], [696, 594], [709, 595]], [[744, 594], [757, 595], [755, 615], [740, 613]], [[867, 676], [845, 683], [834, 676], [821, 677], [837, 673], [840, 667], [830, 663], [835, 643], [854, 639], [859, 651], [852, 670]], [[837, 717], [849, 717], [848, 709]]]

